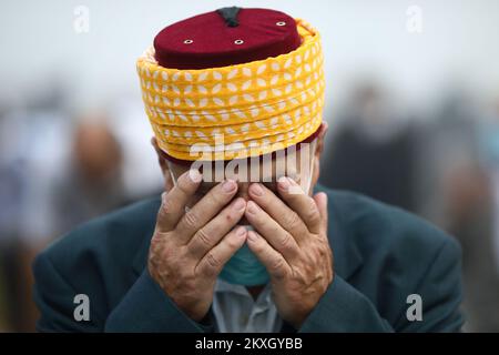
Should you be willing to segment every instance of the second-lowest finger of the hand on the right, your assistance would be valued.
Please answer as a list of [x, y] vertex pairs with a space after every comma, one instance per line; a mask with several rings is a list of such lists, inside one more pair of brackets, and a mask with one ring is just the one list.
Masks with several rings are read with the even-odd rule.
[[287, 261], [293, 261], [299, 253], [299, 246], [293, 235], [284, 230], [255, 202], [248, 201], [245, 216], [265, 240]]

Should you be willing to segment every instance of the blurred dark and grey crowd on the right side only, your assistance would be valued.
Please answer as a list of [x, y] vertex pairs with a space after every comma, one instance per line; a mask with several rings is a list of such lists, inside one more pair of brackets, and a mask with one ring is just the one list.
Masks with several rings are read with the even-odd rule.
[[[499, 111], [497, 111], [499, 112]], [[435, 120], [395, 120], [379, 89], [358, 87], [322, 182], [418, 212], [464, 247], [466, 329], [499, 331], [499, 119], [448, 91]]]

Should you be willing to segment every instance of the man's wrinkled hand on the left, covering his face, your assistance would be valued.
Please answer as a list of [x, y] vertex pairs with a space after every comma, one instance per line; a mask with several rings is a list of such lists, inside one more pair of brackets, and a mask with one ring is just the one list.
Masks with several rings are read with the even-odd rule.
[[237, 192], [234, 181], [217, 184], [185, 212], [201, 179], [197, 171], [187, 171], [162, 195], [147, 263], [151, 276], [197, 322], [212, 304], [216, 276], [247, 234], [242, 226], [233, 230], [246, 207], [241, 197], [227, 206]]

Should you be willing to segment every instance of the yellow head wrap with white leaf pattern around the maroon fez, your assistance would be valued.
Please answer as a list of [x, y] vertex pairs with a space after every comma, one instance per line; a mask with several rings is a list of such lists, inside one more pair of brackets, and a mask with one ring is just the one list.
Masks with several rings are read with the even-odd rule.
[[231, 160], [310, 136], [322, 122], [324, 57], [319, 33], [303, 20], [296, 23], [296, 50], [243, 64], [167, 69], [150, 48], [136, 68], [160, 148], [179, 160]]

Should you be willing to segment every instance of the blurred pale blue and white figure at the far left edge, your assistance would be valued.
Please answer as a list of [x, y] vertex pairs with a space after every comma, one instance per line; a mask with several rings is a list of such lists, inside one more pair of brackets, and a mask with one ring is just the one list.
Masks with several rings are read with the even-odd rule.
[[6, 303], [6, 331], [34, 329], [30, 268], [50, 241], [43, 233], [45, 187], [60, 172], [65, 148], [61, 136], [68, 129], [61, 92], [59, 83], [48, 81], [43, 91], [11, 102], [0, 120], [0, 300]]

